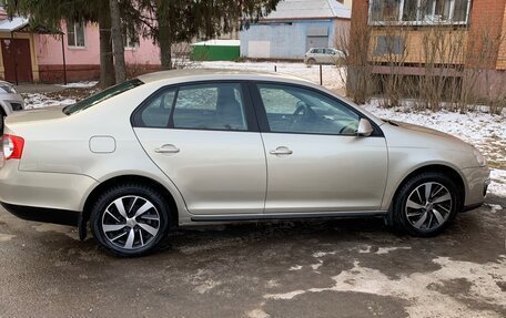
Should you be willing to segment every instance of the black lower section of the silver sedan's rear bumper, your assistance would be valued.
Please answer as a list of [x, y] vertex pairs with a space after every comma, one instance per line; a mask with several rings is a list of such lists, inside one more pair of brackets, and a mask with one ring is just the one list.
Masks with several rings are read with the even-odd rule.
[[23, 206], [4, 202], [0, 202], [0, 204], [9, 213], [22, 219], [78, 226], [80, 213], [75, 211]]

